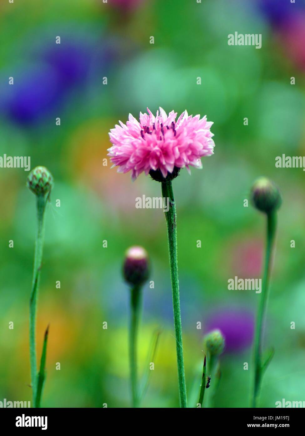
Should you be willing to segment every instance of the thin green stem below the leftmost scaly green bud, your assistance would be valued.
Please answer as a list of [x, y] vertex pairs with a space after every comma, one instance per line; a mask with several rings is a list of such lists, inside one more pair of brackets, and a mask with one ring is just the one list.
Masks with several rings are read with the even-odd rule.
[[47, 204], [47, 197], [37, 195], [37, 236], [34, 254], [34, 271], [32, 291], [30, 296], [30, 368], [31, 368], [31, 385], [33, 389], [33, 404], [36, 404], [37, 395], [37, 358], [36, 358], [36, 312], [37, 296], [40, 279], [40, 267], [42, 260], [44, 244], [44, 211]]

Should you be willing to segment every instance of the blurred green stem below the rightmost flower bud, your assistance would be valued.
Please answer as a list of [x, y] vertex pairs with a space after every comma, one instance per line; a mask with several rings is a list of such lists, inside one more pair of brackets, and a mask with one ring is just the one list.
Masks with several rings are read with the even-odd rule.
[[255, 362], [255, 377], [254, 391], [252, 399], [252, 407], [258, 406], [258, 398], [261, 389], [261, 379], [263, 376], [263, 362], [261, 359], [263, 327], [265, 322], [265, 313], [268, 302], [268, 290], [270, 282], [270, 272], [272, 255], [275, 245], [276, 233], [276, 212], [267, 214], [267, 237], [266, 237], [266, 253], [265, 253], [265, 270], [261, 298], [259, 302], [256, 326], [255, 326], [255, 341], [254, 341], [254, 362]]

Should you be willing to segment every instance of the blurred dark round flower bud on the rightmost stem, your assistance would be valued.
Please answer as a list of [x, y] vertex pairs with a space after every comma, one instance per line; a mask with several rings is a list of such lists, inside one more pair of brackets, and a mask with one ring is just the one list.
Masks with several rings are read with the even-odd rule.
[[268, 214], [281, 206], [282, 195], [272, 181], [260, 177], [251, 188], [251, 201], [255, 208]]

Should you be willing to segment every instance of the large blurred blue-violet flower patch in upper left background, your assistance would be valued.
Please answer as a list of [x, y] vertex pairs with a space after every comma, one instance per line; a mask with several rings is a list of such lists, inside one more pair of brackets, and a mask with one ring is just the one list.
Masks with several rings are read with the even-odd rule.
[[18, 124], [40, 122], [62, 105], [73, 89], [84, 91], [87, 83], [100, 81], [114, 48], [115, 44], [75, 39], [70, 34], [62, 34], [61, 44], [45, 37], [30, 53], [35, 62], [25, 71], [14, 72], [14, 85], [0, 90], [1, 112]]

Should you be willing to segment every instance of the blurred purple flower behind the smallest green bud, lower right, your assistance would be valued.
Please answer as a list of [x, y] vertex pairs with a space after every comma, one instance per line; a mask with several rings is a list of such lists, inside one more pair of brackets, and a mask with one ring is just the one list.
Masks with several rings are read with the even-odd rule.
[[253, 313], [237, 308], [218, 310], [206, 324], [206, 332], [214, 329], [219, 329], [225, 337], [225, 353], [243, 351], [253, 340]]

